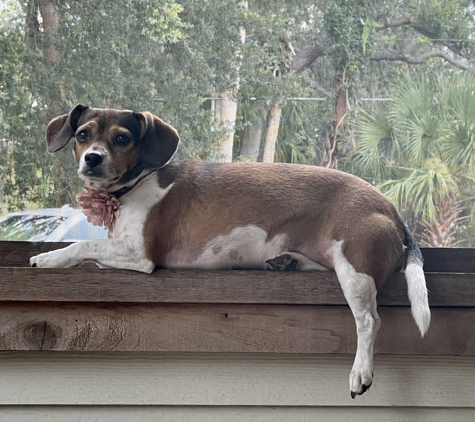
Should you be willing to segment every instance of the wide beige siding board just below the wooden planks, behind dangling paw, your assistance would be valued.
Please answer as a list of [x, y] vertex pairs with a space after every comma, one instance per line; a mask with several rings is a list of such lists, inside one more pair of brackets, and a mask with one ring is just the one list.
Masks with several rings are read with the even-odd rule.
[[0, 404], [475, 407], [475, 358], [378, 356], [348, 391], [352, 356], [0, 353]]

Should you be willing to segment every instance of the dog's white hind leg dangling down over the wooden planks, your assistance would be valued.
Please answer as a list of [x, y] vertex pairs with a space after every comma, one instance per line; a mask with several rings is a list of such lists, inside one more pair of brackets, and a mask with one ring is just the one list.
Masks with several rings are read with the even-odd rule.
[[373, 382], [373, 347], [381, 325], [377, 312], [376, 285], [373, 277], [358, 273], [342, 251], [342, 242], [335, 242], [334, 265], [345, 298], [356, 322], [357, 349], [350, 373], [351, 397], [363, 394]]

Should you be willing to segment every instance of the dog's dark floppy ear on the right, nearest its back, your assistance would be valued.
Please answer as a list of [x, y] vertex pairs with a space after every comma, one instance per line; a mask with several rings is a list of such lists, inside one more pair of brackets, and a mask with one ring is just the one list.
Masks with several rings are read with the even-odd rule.
[[148, 111], [134, 116], [142, 126], [138, 142], [142, 164], [148, 168], [163, 167], [175, 154], [180, 140], [178, 132]]

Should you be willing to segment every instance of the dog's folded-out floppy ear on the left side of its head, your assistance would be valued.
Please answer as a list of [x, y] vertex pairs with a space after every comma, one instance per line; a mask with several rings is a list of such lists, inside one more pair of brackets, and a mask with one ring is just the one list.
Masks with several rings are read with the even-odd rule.
[[81, 114], [89, 107], [78, 104], [71, 113], [55, 117], [46, 128], [46, 142], [48, 152], [56, 152], [64, 148], [74, 136], [78, 128], [78, 120]]

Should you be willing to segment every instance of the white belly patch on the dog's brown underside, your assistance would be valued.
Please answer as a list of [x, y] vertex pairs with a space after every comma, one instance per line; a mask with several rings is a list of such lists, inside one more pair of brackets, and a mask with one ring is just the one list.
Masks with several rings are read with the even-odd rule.
[[263, 270], [267, 259], [286, 251], [287, 236], [268, 239], [267, 232], [257, 226], [237, 227], [227, 235], [210, 240], [201, 254], [189, 258], [189, 253], [175, 249], [166, 259], [167, 268], [256, 269]]

